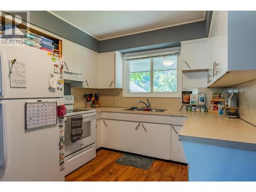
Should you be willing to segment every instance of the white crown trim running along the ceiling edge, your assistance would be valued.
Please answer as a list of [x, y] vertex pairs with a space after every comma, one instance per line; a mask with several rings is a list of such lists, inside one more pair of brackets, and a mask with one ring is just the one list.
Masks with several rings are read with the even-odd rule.
[[179, 24], [173, 24], [173, 25], [168, 25], [168, 26], [163, 26], [163, 27], [158, 27], [158, 28], [153, 28], [153, 29], [148, 29], [148, 30], [144, 30], [144, 31], [138, 31], [138, 32], [134, 32], [134, 33], [126, 33], [126, 34], [122, 34], [122, 35], [117, 35], [117, 36], [112, 36], [112, 37], [106, 37], [106, 38], [98, 38], [90, 33], [88, 33], [87, 31], [81, 29], [80, 27], [72, 24], [71, 22], [69, 22], [67, 19], [57, 15], [56, 13], [52, 12], [52, 11], [47, 11], [49, 13], [51, 13], [52, 15], [58, 17], [59, 19], [63, 20], [64, 22], [68, 23], [69, 25], [72, 25], [73, 27], [81, 30], [84, 33], [87, 33], [88, 35], [96, 38], [97, 40], [101, 41], [101, 40], [107, 40], [107, 39], [112, 39], [112, 38], [117, 38], [117, 37], [123, 37], [123, 36], [128, 36], [128, 35], [134, 35], [134, 34], [138, 34], [138, 33], [144, 33], [144, 32], [148, 32], [148, 31], [155, 31], [158, 29], [164, 29], [164, 28], [168, 28], [168, 27], [175, 27], [175, 26], [180, 26], [180, 25], [185, 25], [185, 24], [190, 24], [190, 23], [196, 23], [196, 22], [202, 22], [203, 20], [205, 20], [205, 15], [206, 15], [206, 11], [204, 11], [204, 17], [200, 18], [200, 19], [196, 19], [196, 20], [191, 20], [189, 22], [183, 22], [183, 23], [179, 23]]

